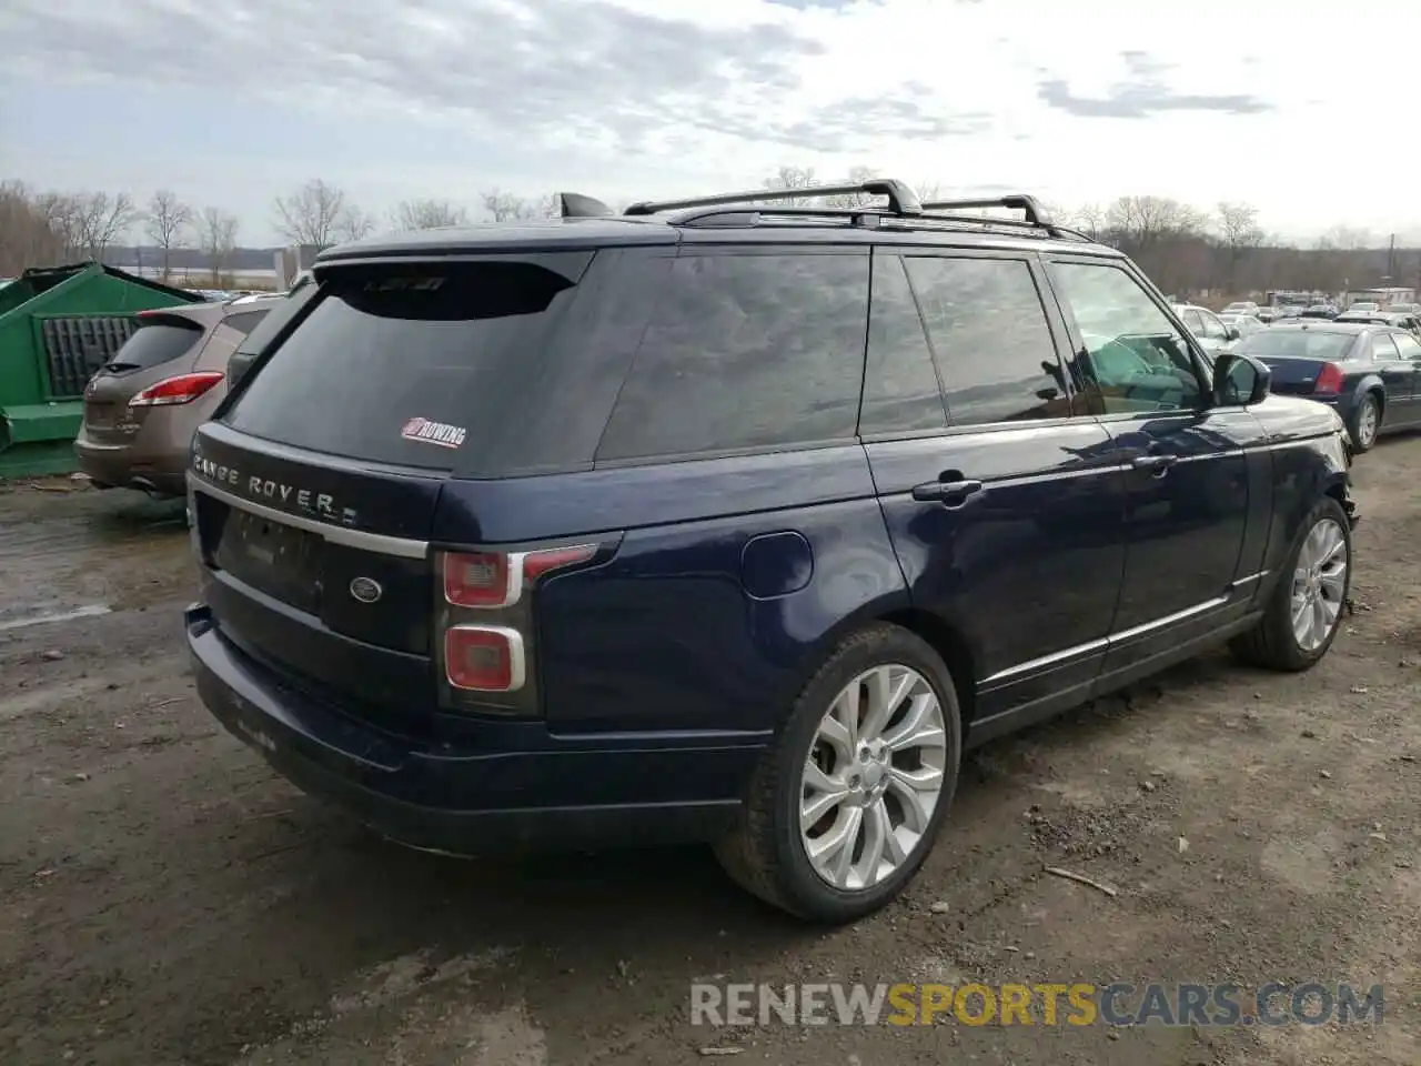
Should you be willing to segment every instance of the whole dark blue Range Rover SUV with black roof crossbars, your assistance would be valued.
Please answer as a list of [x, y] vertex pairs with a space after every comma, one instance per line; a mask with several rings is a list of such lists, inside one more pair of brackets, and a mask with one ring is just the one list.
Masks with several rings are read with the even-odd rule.
[[845, 921], [965, 748], [1327, 651], [1333, 411], [1027, 196], [844, 192], [325, 252], [193, 443], [212, 712], [415, 847], [705, 840]]

